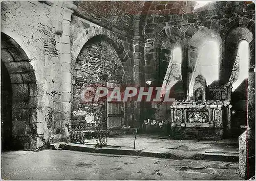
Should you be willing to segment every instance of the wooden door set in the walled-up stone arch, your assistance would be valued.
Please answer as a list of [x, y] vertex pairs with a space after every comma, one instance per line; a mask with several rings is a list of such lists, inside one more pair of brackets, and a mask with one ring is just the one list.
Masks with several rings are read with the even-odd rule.
[[[108, 89], [108, 96], [115, 87], [120, 87], [117, 83], [106, 83], [106, 88]], [[108, 127], [121, 126], [122, 123], [122, 102], [117, 100], [108, 101], [106, 103], [106, 120]]]

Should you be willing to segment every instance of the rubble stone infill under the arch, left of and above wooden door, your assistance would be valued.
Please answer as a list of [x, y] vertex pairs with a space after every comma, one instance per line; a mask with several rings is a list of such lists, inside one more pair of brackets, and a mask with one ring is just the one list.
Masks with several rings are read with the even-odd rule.
[[101, 37], [95, 37], [82, 48], [74, 67], [74, 103], [73, 121], [77, 125], [90, 121], [100, 122], [106, 126], [105, 101], [84, 103], [81, 92], [84, 87], [104, 86], [107, 82], [122, 83], [125, 79], [122, 64], [115, 49]]

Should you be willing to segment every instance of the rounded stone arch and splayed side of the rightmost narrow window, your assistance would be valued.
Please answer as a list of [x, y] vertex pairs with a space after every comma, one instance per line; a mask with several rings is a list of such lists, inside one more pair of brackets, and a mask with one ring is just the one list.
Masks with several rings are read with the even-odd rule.
[[249, 44], [250, 55], [249, 55], [249, 67], [255, 65], [255, 50], [254, 50], [254, 34], [248, 29], [243, 27], [232, 28], [229, 30], [229, 33], [226, 37], [226, 59], [224, 66], [224, 72], [222, 74], [223, 79], [225, 82], [228, 82], [232, 85], [234, 82], [237, 81], [239, 75], [239, 68], [240, 66], [239, 59], [237, 59], [238, 54], [238, 47], [239, 43], [242, 40], [246, 40]]

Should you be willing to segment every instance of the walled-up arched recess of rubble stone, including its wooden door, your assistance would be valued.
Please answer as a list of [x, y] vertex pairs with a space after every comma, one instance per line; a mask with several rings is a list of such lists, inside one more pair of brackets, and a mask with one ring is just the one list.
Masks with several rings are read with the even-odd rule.
[[109, 92], [124, 81], [122, 63], [110, 42], [106, 36], [95, 36], [86, 42], [77, 57], [73, 76], [72, 124], [103, 127], [125, 124], [124, 104], [121, 102], [109, 102], [105, 97], [95, 101], [94, 96], [92, 102], [83, 102], [83, 97], [89, 96], [88, 92], [83, 92], [87, 87], [94, 87], [94, 91], [98, 87], [107, 87], [105, 91]]

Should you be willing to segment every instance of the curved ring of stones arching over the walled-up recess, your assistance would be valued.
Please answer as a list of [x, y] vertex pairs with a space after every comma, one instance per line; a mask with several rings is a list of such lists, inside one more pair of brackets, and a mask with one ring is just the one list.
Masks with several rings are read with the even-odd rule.
[[124, 48], [122, 41], [118, 38], [118, 35], [116, 33], [113, 33], [112, 31], [102, 28], [102, 27], [92, 26], [91, 28], [83, 31], [83, 33], [73, 43], [73, 46], [71, 49], [71, 64], [72, 64], [71, 72], [73, 72], [73, 70], [74, 70], [76, 59], [77, 59], [82, 47], [91, 38], [98, 36], [98, 35], [102, 35], [102, 36], [108, 38], [109, 43], [116, 50], [116, 53], [118, 54], [118, 57], [122, 63], [126, 63], [127, 61], [131, 60], [131, 58], [127, 54], [126, 49]]

